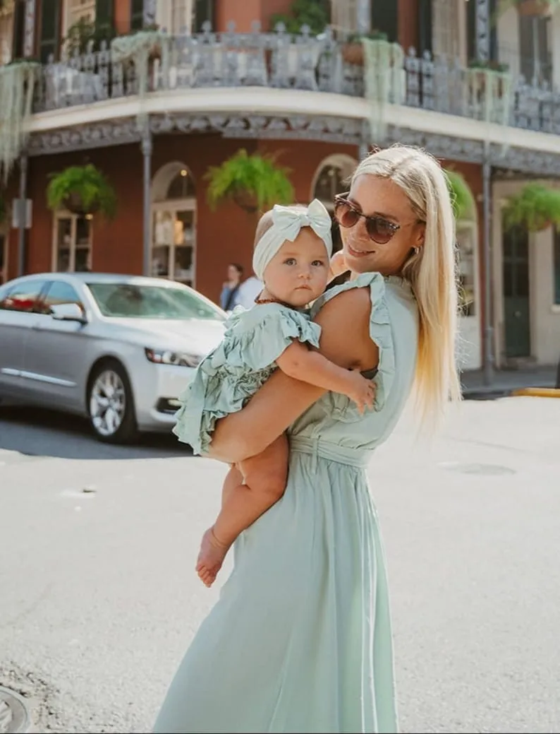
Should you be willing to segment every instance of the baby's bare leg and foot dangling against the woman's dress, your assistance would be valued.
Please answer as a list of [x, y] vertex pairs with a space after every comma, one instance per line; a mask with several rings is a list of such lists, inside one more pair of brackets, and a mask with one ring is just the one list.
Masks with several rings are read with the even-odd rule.
[[[212, 528], [202, 537], [196, 570], [206, 586], [212, 586], [234, 540], [284, 494], [288, 471], [288, 440], [285, 435], [262, 454], [229, 470], [222, 491], [222, 506]], [[233, 479], [245, 481], [233, 484]]]

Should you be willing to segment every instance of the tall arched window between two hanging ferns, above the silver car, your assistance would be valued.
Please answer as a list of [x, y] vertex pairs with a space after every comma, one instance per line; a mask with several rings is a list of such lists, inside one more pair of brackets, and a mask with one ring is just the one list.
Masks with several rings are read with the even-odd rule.
[[152, 275], [195, 283], [196, 186], [180, 161], [161, 167], [152, 181]]

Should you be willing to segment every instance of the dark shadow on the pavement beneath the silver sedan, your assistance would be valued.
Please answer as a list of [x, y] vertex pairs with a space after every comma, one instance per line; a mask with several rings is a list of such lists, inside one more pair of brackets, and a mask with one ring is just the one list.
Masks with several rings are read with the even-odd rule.
[[128, 446], [100, 443], [84, 418], [35, 407], [0, 406], [0, 451], [61, 459], [189, 457], [191, 449], [168, 433], [140, 434]]

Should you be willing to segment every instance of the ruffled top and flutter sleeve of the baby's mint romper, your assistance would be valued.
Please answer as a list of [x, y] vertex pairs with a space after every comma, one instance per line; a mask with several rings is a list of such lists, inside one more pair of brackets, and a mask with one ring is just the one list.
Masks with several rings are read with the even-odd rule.
[[318, 347], [321, 329], [300, 311], [278, 303], [237, 310], [227, 323], [221, 346], [211, 357], [210, 367], [227, 363], [230, 367], [262, 370], [272, 365], [293, 341]]

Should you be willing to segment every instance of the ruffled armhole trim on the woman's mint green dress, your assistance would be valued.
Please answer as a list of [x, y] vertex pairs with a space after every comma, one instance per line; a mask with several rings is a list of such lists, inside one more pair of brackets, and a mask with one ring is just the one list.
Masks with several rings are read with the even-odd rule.
[[[383, 275], [379, 273], [363, 273], [362, 275], [342, 283], [340, 286], [327, 291], [313, 306], [312, 316], [332, 298], [343, 291], [352, 288], [369, 288], [369, 297], [372, 302], [369, 314], [369, 336], [379, 349], [379, 363], [377, 375], [374, 378], [377, 390], [375, 392], [375, 410], [383, 410], [394, 382], [395, 352], [391, 318], [386, 301], [386, 285]], [[331, 393], [331, 408], [336, 418], [341, 421], [355, 421], [360, 413], [353, 401], [339, 393]]]

